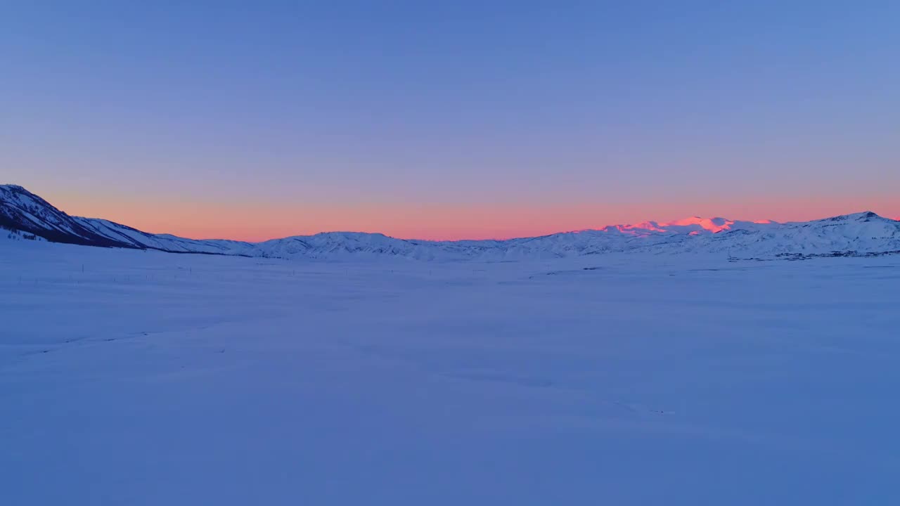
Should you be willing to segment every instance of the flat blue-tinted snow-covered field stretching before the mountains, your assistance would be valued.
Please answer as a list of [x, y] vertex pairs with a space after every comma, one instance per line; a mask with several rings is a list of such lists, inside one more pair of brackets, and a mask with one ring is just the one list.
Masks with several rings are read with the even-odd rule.
[[0, 504], [894, 504], [900, 257], [0, 243]]

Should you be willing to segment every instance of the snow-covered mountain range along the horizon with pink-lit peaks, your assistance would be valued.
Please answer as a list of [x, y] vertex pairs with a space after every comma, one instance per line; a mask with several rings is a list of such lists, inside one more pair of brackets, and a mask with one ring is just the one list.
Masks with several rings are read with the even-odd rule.
[[378, 233], [326, 232], [264, 242], [184, 239], [107, 220], [69, 216], [22, 186], [0, 185], [0, 227], [9, 237], [87, 246], [267, 258], [516, 260], [610, 252], [724, 253], [734, 258], [874, 255], [900, 252], [900, 221], [857, 212], [816, 221], [688, 218], [507, 240], [430, 241]]

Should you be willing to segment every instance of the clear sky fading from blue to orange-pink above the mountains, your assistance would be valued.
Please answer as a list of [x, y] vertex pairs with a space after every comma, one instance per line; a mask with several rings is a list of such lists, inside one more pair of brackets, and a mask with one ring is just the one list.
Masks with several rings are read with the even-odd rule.
[[900, 218], [900, 3], [9, 2], [0, 184], [150, 232]]

